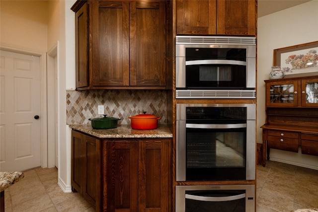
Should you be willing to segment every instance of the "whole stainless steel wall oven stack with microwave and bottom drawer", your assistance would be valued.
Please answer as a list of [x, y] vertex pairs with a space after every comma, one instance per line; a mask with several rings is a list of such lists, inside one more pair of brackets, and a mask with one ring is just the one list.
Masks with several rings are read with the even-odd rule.
[[[245, 182], [255, 180], [256, 105], [235, 103], [255, 98], [255, 40], [176, 38], [176, 212], [255, 209], [255, 185]], [[198, 103], [209, 98], [233, 104]]]

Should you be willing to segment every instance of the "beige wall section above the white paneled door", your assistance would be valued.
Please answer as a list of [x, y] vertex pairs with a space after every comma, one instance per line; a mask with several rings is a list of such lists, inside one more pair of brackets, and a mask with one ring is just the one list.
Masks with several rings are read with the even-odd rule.
[[21, 50], [47, 51], [47, 1], [0, 1], [0, 43]]

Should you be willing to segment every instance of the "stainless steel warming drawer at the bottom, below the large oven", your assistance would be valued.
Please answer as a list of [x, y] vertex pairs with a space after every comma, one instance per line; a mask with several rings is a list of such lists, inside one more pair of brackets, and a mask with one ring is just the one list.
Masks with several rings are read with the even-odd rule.
[[176, 186], [176, 212], [254, 212], [254, 185]]

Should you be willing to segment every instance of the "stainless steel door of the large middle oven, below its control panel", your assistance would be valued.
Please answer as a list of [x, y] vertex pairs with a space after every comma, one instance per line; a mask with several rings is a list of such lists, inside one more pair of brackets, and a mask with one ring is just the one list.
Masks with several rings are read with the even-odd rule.
[[255, 179], [255, 136], [250, 136], [255, 121], [230, 125], [177, 121], [177, 129], [177, 181]]

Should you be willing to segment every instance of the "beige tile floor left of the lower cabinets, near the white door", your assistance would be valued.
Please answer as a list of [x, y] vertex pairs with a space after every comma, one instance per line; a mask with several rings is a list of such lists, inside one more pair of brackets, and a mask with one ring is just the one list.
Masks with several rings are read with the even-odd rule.
[[5, 212], [94, 212], [78, 193], [64, 193], [56, 168], [23, 171], [24, 178], [4, 190]]

